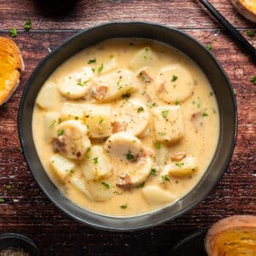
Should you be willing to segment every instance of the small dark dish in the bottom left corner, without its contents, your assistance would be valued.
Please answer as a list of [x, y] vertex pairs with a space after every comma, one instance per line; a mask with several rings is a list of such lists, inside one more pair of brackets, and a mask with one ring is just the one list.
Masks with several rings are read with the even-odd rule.
[[38, 246], [30, 238], [14, 233], [0, 235], [0, 252], [9, 247], [22, 248], [25, 253], [32, 256], [41, 256]]

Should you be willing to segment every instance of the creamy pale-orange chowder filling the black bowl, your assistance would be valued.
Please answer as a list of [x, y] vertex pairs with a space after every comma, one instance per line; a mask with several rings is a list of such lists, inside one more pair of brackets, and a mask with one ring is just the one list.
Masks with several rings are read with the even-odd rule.
[[[141, 51], [142, 53], [143, 50], [146, 55], [141, 56], [144, 59], [141, 63], [139, 59], [140, 54], [138, 54], [138, 52]], [[148, 61], [147, 58], [153, 61]], [[79, 79], [78, 77], [78, 82], [75, 86], [82, 87], [81, 90], [84, 91], [86, 90], [84, 87], [88, 87], [87, 91], [74, 91], [74, 94], [72, 91], [70, 93], [68, 91], [69, 85], [67, 85], [67, 90], [64, 88], [66, 85], [63, 79], [68, 78], [72, 73], [80, 72], [84, 67], [85, 69], [87, 68], [86, 72], [89, 69], [92, 70], [92, 74], [90, 74], [92, 78], [86, 79], [85, 76], [85, 79]], [[167, 70], [171, 70], [171, 78], [168, 81], [166, 80], [167, 82], [163, 81], [160, 77], [160, 73], [162, 72], [163, 76], [166, 75], [168, 79], [169, 73], [168, 71], [165, 73], [165, 67], [167, 67]], [[184, 70], [184, 72], [178, 75], [175, 75], [175, 73], [172, 74], [172, 67], [177, 67], [174, 72], [178, 73], [180, 70], [181, 72]], [[111, 75], [119, 69], [129, 71], [127, 76], [132, 75], [132, 83], [137, 85], [137, 90], [132, 88], [131, 90], [127, 90], [123, 96], [117, 96], [117, 98], [114, 99], [111, 98], [110, 100], [106, 100], [107, 102], [104, 102], [104, 98], [101, 100], [98, 98], [96, 100], [95, 94], [91, 93], [91, 91], [95, 92], [95, 89], [98, 88], [97, 86], [101, 85], [100, 83], [106, 84], [105, 80], [111, 83]], [[141, 73], [142, 71], [145, 71], [145, 73]], [[122, 74], [123, 79], [126, 74], [125, 72]], [[189, 78], [191, 83], [187, 83], [186, 80], [184, 80], [186, 78]], [[181, 80], [184, 81], [183, 84], [179, 84]], [[166, 88], [164, 89], [166, 95], [162, 95], [163, 88], [161, 87], [161, 83], [167, 85], [168, 83], [173, 84], [171, 96], [166, 93], [166, 91], [168, 92]], [[120, 85], [121, 83], [118, 80], [116, 84]], [[126, 86], [127, 83], [123, 85]], [[180, 85], [179, 88], [183, 90], [180, 96], [178, 96], [179, 92], [176, 91], [178, 85]], [[73, 88], [71, 88], [71, 90], [73, 90]], [[120, 90], [124, 90], [124, 88]], [[188, 92], [188, 90], [191, 90], [191, 92]], [[65, 93], [67, 93], [67, 95], [65, 95]], [[70, 99], [71, 94], [77, 98]], [[83, 96], [78, 96], [80, 94], [83, 94]], [[180, 101], [177, 99], [174, 100], [173, 95], [176, 94], [180, 98]], [[186, 94], [188, 96], [185, 96]], [[108, 95], [105, 97], [108, 97]], [[85, 111], [86, 113], [81, 116], [66, 116], [65, 118], [63, 118], [63, 114], [62, 116], [58, 116], [58, 114], [61, 113], [63, 104], [67, 102], [85, 106], [87, 109]], [[127, 108], [128, 110], [132, 110], [131, 107], [134, 106], [132, 102], [138, 103], [137, 113], [136, 111], [133, 112], [135, 121], [130, 120], [134, 122], [134, 124], [129, 124], [127, 127], [124, 125], [122, 127], [122, 125], [117, 123], [117, 109], [119, 108], [119, 115], [120, 113], [124, 113], [122, 109], [126, 109], [126, 112]], [[94, 116], [97, 111], [95, 110], [96, 107], [94, 109], [94, 105], [90, 105], [90, 108], [92, 106], [90, 112], [88, 110], [89, 107], [86, 107], [89, 106], [89, 103], [96, 104], [100, 107], [104, 106], [103, 114], [106, 115], [108, 114], [108, 107], [112, 108], [111, 120], [109, 122], [109, 116], [103, 119], [102, 123], [101, 119], [97, 119], [96, 121], [99, 122], [98, 125], [111, 124], [109, 129], [104, 130], [105, 134], [108, 134], [107, 137], [101, 137], [99, 132], [90, 131], [91, 120], [89, 120], [89, 115]], [[139, 107], [140, 103], [142, 103], [143, 109]], [[171, 108], [169, 109], [170, 106]], [[177, 113], [177, 110], [180, 113]], [[101, 108], [99, 108], [99, 112], [101, 111]], [[144, 125], [146, 127], [143, 129], [143, 122], [145, 124], [147, 123], [147, 121], [143, 121], [143, 115], [146, 112], [148, 113], [148, 118], [146, 117], [145, 119], [148, 120], [148, 125]], [[51, 113], [54, 114], [51, 116]], [[180, 128], [181, 133], [177, 136], [175, 135], [177, 133], [175, 125], [177, 125], [178, 122], [174, 120], [172, 122], [172, 125], [174, 124], [172, 132], [170, 130], [171, 126], [167, 125], [170, 129], [167, 129], [167, 131], [158, 131], [158, 137], [156, 137], [155, 120], [159, 117], [162, 122], [168, 123], [176, 113], [178, 118], [182, 119], [183, 127]], [[46, 115], [50, 115], [50, 118], [52, 118], [51, 122], [49, 122], [48, 119], [47, 123], [47, 120], [45, 120], [47, 119], [45, 118]], [[139, 115], [142, 115], [142, 119], [138, 119], [136, 123], [137, 116]], [[67, 157], [67, 152], [65, 151], [63, 153], [59, 150], [60, 148], [58, 148], [58, 152], [55, 152], [56, 150], [54, 151], [53, 140], [59, 142], [61, 137], [67, 136], [65, 133], [60, 134], [60, 131], [63, 130], [67, 132], [67, 130], [58, 129], [58, 127], [61, 127], [60, 125], [67, 127], [67, 125], [65, 126], [65, 122], [67, 122], [68, 119], [80, 122], [84, 130], [80, 126], [78, 129], [81, 128], [82, 130], [79, 131], [83, 131], [84, 134], [86, 134], [86, 132], [94, 132], [94, 134], [96, 134], [96, 137], [93, 138], [91, 135], [89, 135], [89, 137], [84, 135], [83, 147], [81, 148], [81, 145], [78, 146], [81, 152], [85, 152], [82, 156], [76, 154], [74, 156], [71, 155], [70, 158], [70, 155]], [[128, 120], [129, 111], [126, 113], [125, 117], [119, 117], [119, 120], [120, 119], [122, 121], [125, 121], [125, 119]], [[85, 131], [88, 122], [90, 122], [89, 131]], [[165, 125], [166, 123], [163, 124]], [[120, 134], [119, 132], [113, 132], [113, 124], [118, 124], [117, 126], [120, 127], [117, 128], [121, 130], [126, 129], [126, 131], [120, 131], [121, 138], [118, 137], [116, 139], [117, 143], [121, 143], [120, 148], [124, 149], [127, 146], [127, 143], [122, 144], [125, 142], [125, 139], [122, 137], [122, 132], [128, 133], [129, 135], [131, 135], [133, 131], [138, 132], [139, 134], [136, 134], [136, 137], [139, 143], [141, 143], [138, 148], [143, 154], [129, 152], [130, 150], [127, 150], [127, 153], [122, 155], [119, 155], [119, 152], [116, 151], [112, 152], [111, 150], [117, 147], [116, 144], [114, 144], [115, 138], [113, 135], [117, 133]], [[160, 125], [160, 127], [162, 126]], [[130, 129], [129, 132], [127, 132], [127, 129]], [[55, 185], [61, 189], [64, 195], [71, 201], [91, 212], [99, 212], [111, 216], [138, 215], [160, 207], [165, 207], [179, 200], [183, 195], [186, 195], [193, 189], [204, 172], [206, 172], [218, 143], [218, 104], [212, 87], [201, 69], [195, 65], [195, 62], [191, 61], [187, 56], [178, 52], [176, 49], [150, 40], [111, 39], [96, 44], [88, 49], [84, 49], [77, 55], [73, 55], [73, 57], [65, 61], [50, 75], [38, 94], [37, 104], [33, 112], [32, 132], [38, 156], [45, 171]], [[166, 137], [167, 141], [165, 140], [163, 142], [161, 136]], [[109, 137], [113, 137], [113, 140]], [[86, 139], [90, 140], [90, 147], [86, 144], [88, 143]], [[110, 150], [108, 150], [109, 141], [111, 144], [109, 147], [112, 147]], [[96, 145], [100, 146], [100, 150], [102, 151], [96, 151], [99, 152], [99, 157], [94, 157], [94, 160], [92, 160], [90, 159], [90, 154], [92, 155], [93, 153], [90, 149], [86, 149], [86, 147], [91, 148]], [[96, 148], [96, 150], [98, 150], [98, 148]], [[183, 155], [184, 153], [185, 156]], [[72, 170], [67, 171], [68, 173], [62, 173], [64, 176], [62, 174], [60, 175], [60, 173], [56, 171], [56, 168], [58, 168], [58, 166], [56, 167], [57, 162], [51, 159], [53, 155], [61, 155], [61, 160], [64, 158], [69, 163], [72, 163]], [[103, 160], [102, 155], [104, 155]], [[183, 157], [183, 159], [176, 160], [178, 157]], [[59, 159], [56, 160], [58, 161]], [[89, 161], [90, 165], [88, 164]], [[100, 163], [97, 161], [100, 161]], [[88, 170], [93, 168], [92, 163], [95, 163], [96, 166], [99, 164], [102, 165], [100, 177], [87, 178], [91, 176]], [[84, 166], [87, 167], [85, 171]], [[106, 166], [109, 166], [108, 172], [105, 170]], [[133, 173], [133, 170], [142, 170], [141, 166], [146, 166], [146, 174], [143, 174], [141, 179], [138, 178], [136, 182], [132, 183], [136, 180], [135, 177], [137, 175], [136, 172]], [[96, 168], [100, 167], [97, 166]], [[173, 170], [173, 168], [178, 170]], [[103, 172], [106, 173], [104, 174]], [[125, 185], [117, 185], [117, 183], [120, 183], [120, 177], [122, 177], [123, 172], [128, 172], [128, 174], [125, 173], [126, 176], [123, 176], [123, 179], [121, 178], [121, 182], [124, 182], [125, 179]], [[128, 181], [126, 180], [127, 175], [130, 177], [130, 181], [129, 178]], [[76, 178], [76, 181], [79, 180], [79, 183], [82, 183], [83, 192], [79, 187], [73, 184], [73, 177]], [[159, 191], [154, 191], [155, 188], [160, 189], [160, 193]], [[105, 201], [98, 201], [99, 199], [102, 200], [102, 198], [105, 199]]]

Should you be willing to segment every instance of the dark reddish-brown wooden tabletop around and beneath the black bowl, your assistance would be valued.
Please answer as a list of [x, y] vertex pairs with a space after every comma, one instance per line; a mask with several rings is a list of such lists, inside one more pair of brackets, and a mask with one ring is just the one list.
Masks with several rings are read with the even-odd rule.
[[[26, 71], [15, 95], [0, 110], [0, 233], [17, 232], [34, 239], [44, 255], [157, 255], [168, 253], [179, 239], [233, 214], [256, 214], [255, 66], [207, 10], [194, 0], [0, 0], [0, 36], [15, 27], [16, 44]], [[236, 13], [229, 0], [211, 3], [247, 37], [256, 25]], [[27, 18], [32, 30], [23, 30]], [[230, 166], [211, 195], [182, 218], [149, 230], [109, 232], [78, 224], [43, 194], [27, 169], [17, 131], [17, 111], [26, 81], [38, 62], [83, 28], [106, 21], [148, 20], [177, 27], [212, 53], [236, 88], [238, 136]], [[256, 40], [247, 37], [255, 46]], [[11, 185], [11, 189], [6, 189]], [[192, 255], [192, 253], [191, 253]]]

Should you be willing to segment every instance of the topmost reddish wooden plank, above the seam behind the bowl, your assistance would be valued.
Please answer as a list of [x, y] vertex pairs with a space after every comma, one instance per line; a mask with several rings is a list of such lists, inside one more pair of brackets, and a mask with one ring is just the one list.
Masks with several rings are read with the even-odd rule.
[[[255, 27], [241, 19], [230, 0], [211, 3], [237, 27]], [[25, 20], [32, 19], [33, 29], [83, 29], [106, 21], [148, 20], [178, 28], [216, 28], [198, 0], [0, 0], [0, 29], [23, 29]], [[14, 20], [14, 14], [19, 19]]]

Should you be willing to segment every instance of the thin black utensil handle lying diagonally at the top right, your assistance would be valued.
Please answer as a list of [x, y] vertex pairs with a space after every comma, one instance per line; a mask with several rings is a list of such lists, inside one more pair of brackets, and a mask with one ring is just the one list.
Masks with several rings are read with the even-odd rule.
[[219, 23], [224, 26], [227, 32], [230, 33], [230, 35], [235, 38], [241, 46], [247, 50], [247, 53], [251, 55], [254, 62], [256, 62], [256, 50], [253, 47], [252, 44], [249, 44], [246, 38], [244, 38], [240, 32], [236, 30], [234, 26], [230, 24], [228, 20], [224, 18], [223, 15], [221, 15], [217, 9], [215, 9], [211, 3], [209, 3], [207, 0], [200, 0], [200, 2], [209, 10], [209, 12], [219, 21]]

